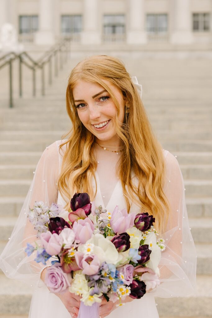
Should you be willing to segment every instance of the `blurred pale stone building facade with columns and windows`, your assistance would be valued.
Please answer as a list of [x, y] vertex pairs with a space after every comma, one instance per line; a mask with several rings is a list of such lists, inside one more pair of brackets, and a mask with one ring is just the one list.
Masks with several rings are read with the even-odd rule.
[[212, 47], [212, 0], [1, 0], [0, 27], [19, 41], [52, 45], [70, 37], [86, 47]]

